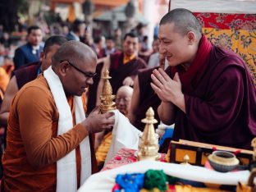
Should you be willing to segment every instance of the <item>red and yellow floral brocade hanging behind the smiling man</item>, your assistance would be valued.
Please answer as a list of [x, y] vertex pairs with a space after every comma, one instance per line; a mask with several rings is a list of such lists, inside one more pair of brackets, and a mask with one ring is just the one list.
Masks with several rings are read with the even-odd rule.
[[196, 12], [194, 16], [213, 44], [240, 55], [256, 84], [256, 14]]

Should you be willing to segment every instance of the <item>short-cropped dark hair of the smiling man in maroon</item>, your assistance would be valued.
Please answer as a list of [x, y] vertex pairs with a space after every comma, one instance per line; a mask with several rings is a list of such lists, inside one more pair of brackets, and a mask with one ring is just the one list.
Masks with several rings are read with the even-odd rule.
[[188, 32], [193, 31], [196, 36], [201, 39], [202, 26], [193, 13], [187, 9], [178, 8], [169, 11], [162, 17], [160, 25], [168, 23], [174, 23], [174, 30], [181, 35], [185, 35]]

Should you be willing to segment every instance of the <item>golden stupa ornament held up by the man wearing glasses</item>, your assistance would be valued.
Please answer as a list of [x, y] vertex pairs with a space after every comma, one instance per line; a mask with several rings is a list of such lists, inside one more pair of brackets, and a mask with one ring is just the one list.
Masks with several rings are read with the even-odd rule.
[[109, 79], [111, 79], [111, 76], [109, 76], [109, 71], [106, 69], [106, 71], [103, 72], [103, 93], [100, 96], [100, 111], [102, 113], [112, 111], [116, 109], [116, 103], [113, 102], [113, 100], [116, 98], [115, 95], [112, 94], [112, 86], [109, 83]]

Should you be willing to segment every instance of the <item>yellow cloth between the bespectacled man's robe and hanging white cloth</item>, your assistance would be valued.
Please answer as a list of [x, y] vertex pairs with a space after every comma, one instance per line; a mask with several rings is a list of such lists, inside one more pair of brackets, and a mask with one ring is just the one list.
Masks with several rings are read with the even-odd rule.
[[107, 133], [107, 135], [103, 137], [103, 141], [98, 146], [98, 149], [96, 151], [96, 159], [97, 159], [98, 165], [105, 162], [105, 159], [107, 157], [107, 152], [108, 152], [108, 149], [110, 148], [111, 142], [112, 142], [112, 132], [109, 132]]

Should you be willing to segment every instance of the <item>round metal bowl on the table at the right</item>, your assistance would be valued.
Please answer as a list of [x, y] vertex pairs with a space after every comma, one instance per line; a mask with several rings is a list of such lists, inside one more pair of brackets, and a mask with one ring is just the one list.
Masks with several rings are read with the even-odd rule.
[[214, 151], [208, 156], [208, 162], [215, 171], [220, 172], [232, 171], [239, 164], [235, 155], [226, 151]]

